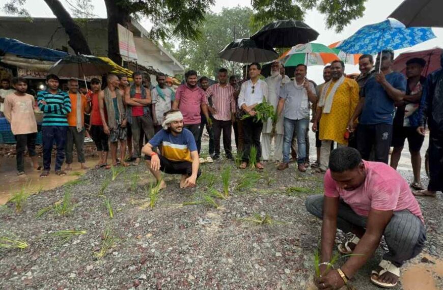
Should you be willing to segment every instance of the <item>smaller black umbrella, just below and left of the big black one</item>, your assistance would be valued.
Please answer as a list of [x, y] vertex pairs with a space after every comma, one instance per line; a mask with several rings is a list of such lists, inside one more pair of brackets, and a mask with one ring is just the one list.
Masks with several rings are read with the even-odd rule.
[[270, 45], [248, 38], [234, 40], [220, 50], [218, 55], [222, 59], [237, 63], [265, 63], [279, 57]]

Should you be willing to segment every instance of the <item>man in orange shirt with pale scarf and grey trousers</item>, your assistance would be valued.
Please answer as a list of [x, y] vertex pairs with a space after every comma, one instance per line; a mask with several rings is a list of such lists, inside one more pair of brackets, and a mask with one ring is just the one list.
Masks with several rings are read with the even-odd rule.
[[77, 149], [77, 158], [80, 162], [81, 169], [88, 169], [85, 162], [85, 152], [83, 150], [85, 144], [85, 112], [91, 112], [90, 101], [85, 95], [78, 92], [78, 81], [70, 79], [68, 81], [69, 99], [71, 99], [71, 112], [68, 113], [68, 133], [66, 138], [66, 169], [71, 170], [73, 161], [74, 144]]

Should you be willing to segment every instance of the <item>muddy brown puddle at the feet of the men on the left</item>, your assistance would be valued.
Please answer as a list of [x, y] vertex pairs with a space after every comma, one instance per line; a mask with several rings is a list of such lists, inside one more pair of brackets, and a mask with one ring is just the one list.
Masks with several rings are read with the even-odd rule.
[[[52, 162], [54, 162], [54, 158], [52, 158]], [[94, 168], [97, 162], [97, 157], [90, 157], [87, 158], [86, 164], [88, 167]], [[0, 158], [0, 164], [2, 168], [2, 172], [0, 172], [2, 177], [2, 182], [0, 183], [0, 205], [6, 204], [11, 194], [20, 191], [23, 187], [26, 192], [32, 193], [40, 190], [49, 190], [78, 179], [79, 175], [86, 172], [86, 170], [80, 169], [80, 163], [74, 162], [73, 166], [71, 166], [73, 168], [72, 171], [67, 172], [65, 176], [57, 176], [52, 169], [48, 177], [40, 178], [41, 171], [32, 169], [31, 160], [26, 159], [26, 176], [18, 177], [15, 158]], [[62, 168], [64, 167], [65, 164]]]

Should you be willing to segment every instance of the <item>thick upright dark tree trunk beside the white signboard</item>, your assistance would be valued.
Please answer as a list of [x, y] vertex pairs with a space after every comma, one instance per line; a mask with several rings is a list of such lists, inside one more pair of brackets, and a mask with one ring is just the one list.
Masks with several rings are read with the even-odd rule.
[[108, 57], [116, 64], [122, 65], [122, 56], [119, 50], [119, 34], [117, 24], [124, 27], [130, 22], [129, 11], [117, 4], [115, 0], [104, 0], [107, 12], [107, 41], [108, 41]]

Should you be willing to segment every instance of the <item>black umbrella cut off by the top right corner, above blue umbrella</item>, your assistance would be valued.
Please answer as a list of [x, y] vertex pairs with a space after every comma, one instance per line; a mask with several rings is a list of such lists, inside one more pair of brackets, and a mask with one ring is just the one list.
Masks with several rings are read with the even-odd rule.
[[443, 1], [405, 0], [389, 16], [403, 22], [406, 27], [443, 27]]

